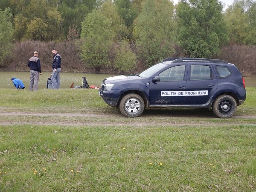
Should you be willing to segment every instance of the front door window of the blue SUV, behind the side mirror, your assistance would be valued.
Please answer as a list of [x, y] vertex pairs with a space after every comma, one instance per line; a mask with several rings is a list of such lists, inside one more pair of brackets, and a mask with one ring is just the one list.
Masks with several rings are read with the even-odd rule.
[[185, 65], [170, 67], [159, 74], [160, 81], [183, 81], [185, 75]]

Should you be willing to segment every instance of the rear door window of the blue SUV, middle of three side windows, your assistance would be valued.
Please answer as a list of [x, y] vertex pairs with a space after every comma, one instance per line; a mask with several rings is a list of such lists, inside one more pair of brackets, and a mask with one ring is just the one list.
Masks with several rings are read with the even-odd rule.
[[206, 80], [211, 78], [211, 69], [208, 65], [191, 65], [190, 80]]

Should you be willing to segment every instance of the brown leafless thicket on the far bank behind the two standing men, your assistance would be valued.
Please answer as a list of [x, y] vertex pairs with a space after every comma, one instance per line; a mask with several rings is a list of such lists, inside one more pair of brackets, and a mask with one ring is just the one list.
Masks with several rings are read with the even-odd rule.
[[[79, 51], [76, 48], [76, 41], [17, 41], [14, 46], [13, 58], [9, 59], [6, 63], [6, 70], [29, 70], [26, 66], [30, 57], [32, 57], [34, 51], [38, 51], [41, 61], [42, 71], [52, 70], [52, 48], [57, 49], [58, 53], [62, 57], [62, 71], [72, 69], [76, 72], [84, 72], [83, 64], [79, 56]], [[83, 71], [82, 71], [83, 70]]]

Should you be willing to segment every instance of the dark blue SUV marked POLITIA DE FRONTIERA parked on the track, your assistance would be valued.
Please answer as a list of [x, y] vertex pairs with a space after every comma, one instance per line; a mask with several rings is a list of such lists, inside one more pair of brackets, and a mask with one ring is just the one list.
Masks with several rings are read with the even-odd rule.
[[99, 95], [127, 117], [144, 108], [211, 108], [230, 118], [244, 103], [244, 78], [234, 64], [204, 58], [166, 58], [140, 74], [104, 79]]

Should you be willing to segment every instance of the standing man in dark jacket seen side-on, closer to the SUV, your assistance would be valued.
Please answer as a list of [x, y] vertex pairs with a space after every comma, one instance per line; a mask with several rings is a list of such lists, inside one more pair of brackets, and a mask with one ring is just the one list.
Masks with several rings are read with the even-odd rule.
[[59, 89], [61, 85], [61, 55], [59, 55], [56, 49], [52, 49], [53, 62], [52, 62], [52, 87], [53, 89]]

